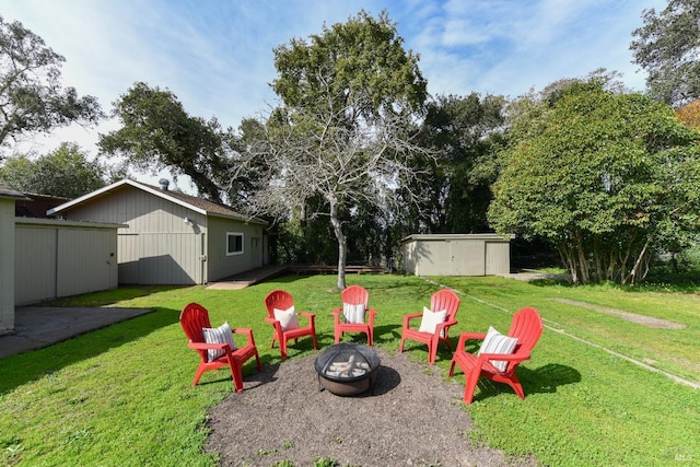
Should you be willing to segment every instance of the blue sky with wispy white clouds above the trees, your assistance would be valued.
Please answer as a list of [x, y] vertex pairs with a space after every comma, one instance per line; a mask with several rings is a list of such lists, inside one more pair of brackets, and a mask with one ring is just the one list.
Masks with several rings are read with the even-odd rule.
[[[420, 55], [429, 92], [516, 97], [604, 67], [633, 90], [644, 73], [631, 62], [631, 33], [644, 9], [666, 0], [0, 0], [66, 57], [62, 78], [103, 108], [135, 82], [170, 89], [192, 116], [237, 127], [276, 103], [272, 49], [322, 33], [364, 9], [386, 9], [405, 47]], [[95, 154], [100, 132], [71, 127], [27, 141], [40, 153], [60, 141]], [[28, 145], [27, 145], [28, 144]]]

